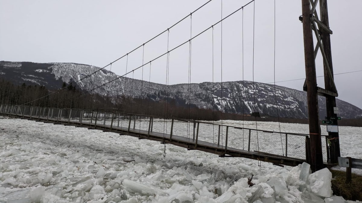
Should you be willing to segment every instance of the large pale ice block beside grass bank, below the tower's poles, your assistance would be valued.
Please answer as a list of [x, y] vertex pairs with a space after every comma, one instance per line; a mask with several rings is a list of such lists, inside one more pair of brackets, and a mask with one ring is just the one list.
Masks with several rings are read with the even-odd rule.
[[318, 170], [308, 176], [311, 190], [314, 194], [330, 197], [332, 196], [332, 173], [328, 168]]

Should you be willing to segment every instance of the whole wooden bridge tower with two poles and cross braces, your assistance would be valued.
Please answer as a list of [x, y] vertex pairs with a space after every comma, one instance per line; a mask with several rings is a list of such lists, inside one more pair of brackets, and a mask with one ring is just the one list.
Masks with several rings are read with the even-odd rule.
[[[303, 90], [307, 91], [308, 103], [308, 117], [309, 117], [309, 131], [310, 131], [310, 164], [312, 170], [319, 170], [323, 168], [323, 155], [321, 148], [321, 132], [319, 126], [319, 107], [318, 96], [325, 96], [327, 103], [327, 117], [331, 119], [334, 117], [333, 124], [337, 125], [337, 118], [334, 114], [334, 107], [336, 107], [336, 96], [338, 96], [336, 85], [333, 80], [332, 70], [332, 54], [331, 54], [331, 41], [329, 35], [332, 30], [328, 25], [328, 10], [327, 0], [320, 0], [320, 14], [321, 19], [318, 19], [316, 12], [318, 0], [302, 0], [302, 22], [303, 22], [303, 38], [304, 38], [304, 59], [306, 64], [306, 81]], [[313, 44], [313, 33], [317, 39], [316, 47]], [[315, 58], [320, 49], [323, 56], [324, 65], [324, 79], [325, 89], [317, 87]], [[336, 162], [337, 157], [340, 156], [338, 133], [329, 134], [336, 139], [333, 139], [331, 146], [331, 162]]]

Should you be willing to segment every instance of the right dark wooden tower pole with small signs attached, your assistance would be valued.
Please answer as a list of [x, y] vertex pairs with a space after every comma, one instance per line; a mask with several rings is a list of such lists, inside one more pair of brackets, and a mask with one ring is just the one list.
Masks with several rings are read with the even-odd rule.
[[[320, 8], [320, 21], [329, 28], [329, 20], [328, 20], [328, 7], [327, 7], [327, 0], [320, 0], [319, 1], [319, 8]], [[332, 51], [331, 51], [331, 35], [324, 29], [320, 29], [320, 35], [322, 38], [322, 43], [324, 47], [324, 52], [326, 55], [326, 62], [323, 62], [324, 68], [324, 86], [326, 90], [333, 91], [333, 66], [332, 66]], [[328, 77], [328, 66], [329, 70], [332, 73], [332, 80]], [[336, 97], [332, 95], [325, 96], [325, 103], [327, 109], [327, 117], [337, 117], [334, 113], [334, 107], [336, 107]], [[338, 125], [337, 119], [333, 119], [333, 125]], [[339, 144], [339, 135], [338, 132], [329, 132], [329, 136], [332, 139], [330, 144], [330, 162], [331, 163], [338, 163], [338, 156], [341, 156], [340, 152], [340, 144]]]

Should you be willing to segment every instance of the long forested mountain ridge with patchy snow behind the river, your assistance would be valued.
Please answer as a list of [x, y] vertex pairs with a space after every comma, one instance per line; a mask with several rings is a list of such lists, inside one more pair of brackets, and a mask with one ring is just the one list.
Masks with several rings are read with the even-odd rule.
[[[54, 90], [61, 87], [63, 82], [79, 81], [81, 78], [96, 72], [99, 67], [75, 63], [33, 63], [0, 61], [0, 78], [10, 80], [18, 85], [22, 83], [44, 85]], [[91, 90], [101, 86], [94, 92], [109, 96], [133, 96], [152, 100], [164, 100], [179, 105], [189, 103], [199, 108], [222, 110], [229, 113], [260, 112], [262, 115], [277, 116], [277, 106], [281, 117], [307, 118], [306, 92], [287, 87], [250, 81], [235, 81], [199, 84], [177, 84], [165, 86], [132, 78], [119, 78], [113, 72], [100, 70], [77, 82], [77, 88]], [[222, 88], [221, 88], [222, 87]], [[190, 88], [190, 91], [189, 91]], [[254, 89], [254, 90], [253, 90]], [[167, 95], [166, 95], [167, 94]], [[277, 103], [275, 103], [275, 97]], [[255, 98], [255, 105], [254, 105]], [[320, 117], [325, 116], [325, 99], [319, 98]], [[362, 109], [337, 99], [341, 117], [362, 117]]]

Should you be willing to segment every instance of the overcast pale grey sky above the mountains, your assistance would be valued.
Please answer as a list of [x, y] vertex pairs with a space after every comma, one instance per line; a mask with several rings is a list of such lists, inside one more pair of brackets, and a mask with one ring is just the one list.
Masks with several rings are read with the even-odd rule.
[[[206, 0], [0, 1], [0, 60], [76, 62], [103, 67], [140, 46]], [[213, 0], [192, 15], [192, 36], [249, 0]], [[191, 82], [252, 81], [253, 3], [192, 41]], [[275, 81], [305, 77], [300, 0], [276, 0]], [[328, 1], [334, 73], [362, 70], [362, 1]], [[222, 11], [222, 14], [221, 14]], [[242, 26], [243, 25], [243, 26]], [[244, 31], [242, 31], [244, 27]], [[222, 30], [222, 49], [221, 49]], [[212, 55], [212, 34], [214, 54]], [[144, 46], [144, 63], [167, 51], [167, 33]], [[190, 18], [169, 30], [169, 49], [190, 38]], [[244, 53], [242, 44], [244, 42]], [[222, 54], [221, 54], [222, 50]], [[187, 83], [189, 44], [169, 55], [169, 84]], [[214, 56], [214, 74], [212, 74]], [[221, 63], [222, 56], [222, 63]], [[244, 56], [244, 75], [243, 75]], [[166, 56], [152, 62], [151, 82], [165, 83]], [[222, 65], [221, 65], [222, 64]], [[142, 48], [129, 55], [128, 70], [142, 65]], [[223, 77], [221, 78], [221, 66]], [[321, 55], [317, 75], [323, 75]], [[110, 70], [110, 67], [107, 67]], [[150, 65], [143, 68], [148, 81]], [[122, 75], [126, 57], [112, 65]], [[254, 81], [274, 81], [274, 1], [255, 1]], [[132, 77], [132, 75], [129, 75]], [[134, 72], [142, 79], [142, 69]], [[335, 76], [338, 98], [362, 108], [362, 72]], [[318, 85], [324, 87], [323, 78]], [[304, 80], [277, 85], [302, 90]]]

